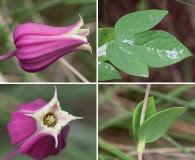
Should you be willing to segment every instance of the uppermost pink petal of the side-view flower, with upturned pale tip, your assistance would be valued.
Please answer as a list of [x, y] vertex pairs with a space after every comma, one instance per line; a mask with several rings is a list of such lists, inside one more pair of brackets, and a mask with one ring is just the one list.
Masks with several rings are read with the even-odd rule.
[[26, 23], [18, 26], [14, 30], [14, 43], [16, 43], [21, 37], [29, 35], [59, 35], [59, 34], [68, 34], [76, 28], [80, 28], [82, 25], [82, 18], [79, 17], [79, 20], [71, 26], [67, 27], [53, 27], [37, 23]]

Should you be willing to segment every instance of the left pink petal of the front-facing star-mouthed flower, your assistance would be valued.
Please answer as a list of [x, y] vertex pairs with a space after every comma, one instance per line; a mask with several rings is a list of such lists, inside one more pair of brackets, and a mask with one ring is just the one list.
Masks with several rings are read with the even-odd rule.
[[12, 113], [12, 120], [8, 124], [7, 129], [9, 131], [12, 144], [19, 144], [37, 130], [36, 121], [24, 113], [18, 111]]

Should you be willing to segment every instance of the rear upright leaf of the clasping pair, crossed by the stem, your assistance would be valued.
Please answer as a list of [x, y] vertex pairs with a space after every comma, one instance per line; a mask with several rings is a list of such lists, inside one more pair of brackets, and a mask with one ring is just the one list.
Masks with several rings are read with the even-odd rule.
[[[137, 132], [138, 132], [138, 129], [139, 129], [139, 126], [140, 126], [140, 118], [141, 118], [143, 102], [144, 101], [141, 101], [137, 105], [137, 107], [135, 108], [135, 111], [134, 111], [134, 115], [133, 115], [132, 128], [133, 128], [133, 133], [134, 133], [134, 136], [135, 136], [136, 140], [138, 140]], [[154, 98], [149, 97], [148, 98], [147, 109], [146, 109], [146, 113], [145, 113], [145, 117], [144, 117], [144, 121], [147, 120], [148, 118], [150, 118], [151, 116], [153, 116], [154, 114], [156, 114]]]

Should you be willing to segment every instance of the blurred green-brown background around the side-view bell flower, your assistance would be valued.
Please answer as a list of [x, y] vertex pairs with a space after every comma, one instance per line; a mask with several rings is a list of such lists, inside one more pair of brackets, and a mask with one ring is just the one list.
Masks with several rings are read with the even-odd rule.
[[[12, 32], [27, 22], [51, 26], [72, 25], [78, 15], [84, 19], [83, 28], [90, 28], [88, 42], [93, 55], [76, 51], [63, 56], [87, 80], [96, 80], [96, 0], [1, 0], [0, 1], [0, 55], [15, 49]], [[78, 82], [75, 74], [59, 60], [47, 69], [32, 74], [23, 71], [17, 58], [0, 61], [0, 81], [11, 82]]]

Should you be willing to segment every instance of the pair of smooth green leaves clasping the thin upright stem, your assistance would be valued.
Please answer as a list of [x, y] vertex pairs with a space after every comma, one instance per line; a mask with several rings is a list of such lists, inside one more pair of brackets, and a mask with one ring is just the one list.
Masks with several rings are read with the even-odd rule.
[[160, 138], [174, 123], [182, 111], [182, 107], [173, 107], [156, 113], [154, 98], [149, 97], [144, 122], [140, 125], [143, 101], [133, 116], [133, 133], [137, 141], [150, 143]]

